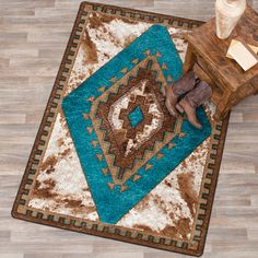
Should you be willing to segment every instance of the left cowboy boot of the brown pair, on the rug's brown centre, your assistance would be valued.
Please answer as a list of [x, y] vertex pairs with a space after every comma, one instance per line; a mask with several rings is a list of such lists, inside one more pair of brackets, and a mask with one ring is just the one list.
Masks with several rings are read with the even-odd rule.
[[174, 85], [166, 87], [166, 107], [172, 116], [178, 116], [175, 108], [177, 99], [183, 94], [191, 91], [196, 85], [196, 74], [194, 71], [187, 72]]

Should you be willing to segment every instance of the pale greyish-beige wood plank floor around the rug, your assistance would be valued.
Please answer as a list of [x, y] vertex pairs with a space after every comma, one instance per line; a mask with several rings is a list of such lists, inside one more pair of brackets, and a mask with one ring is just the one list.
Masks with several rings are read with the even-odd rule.
[[[10, 215], [79, 2], [0, 0], [0, 258], [183, 257]], [[214, 13], [214, 0], [102, 2], [204, 21]], [[203, 257], [258, 257], [258, 95], [232, 113]]]

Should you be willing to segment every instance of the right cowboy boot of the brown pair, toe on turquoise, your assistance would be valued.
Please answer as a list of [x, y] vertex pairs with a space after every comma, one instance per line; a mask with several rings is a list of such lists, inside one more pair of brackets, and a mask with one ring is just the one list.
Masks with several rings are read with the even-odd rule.
[[176, 108], [180, 113], [186, 113], [189, 122], [198, 128], [202, 129], [201, 124], [197, 119], [196, 108], [203, 102], [210, 98], [212, 90], [210, 85], [201, 81], [192, 91], [190, 91], [177, 105]]

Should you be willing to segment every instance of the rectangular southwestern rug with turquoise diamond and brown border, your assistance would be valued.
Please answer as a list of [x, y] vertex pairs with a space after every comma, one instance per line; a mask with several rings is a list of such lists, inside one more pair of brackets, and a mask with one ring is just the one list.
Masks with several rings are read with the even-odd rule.
[[201, 22], [83, 2], [13, 206], [17, 219], [200, 256], [228, 118], [169, 116]]

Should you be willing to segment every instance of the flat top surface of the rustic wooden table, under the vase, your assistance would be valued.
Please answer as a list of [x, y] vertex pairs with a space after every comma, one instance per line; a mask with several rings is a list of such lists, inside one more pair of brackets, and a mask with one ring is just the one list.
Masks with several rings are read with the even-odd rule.
[[231, 40], [236, 37], [258, 46], [258, 13], [249, 5], [227, 39], [222, 40], [216, 37], [215, 19], [188, 35], [189, 43], [218, 71], [218, 75], [226, 81], [232, 91], [236, 91], [258, 74], [258, 64], [245, 72], [236, 61], [226, 58]]

